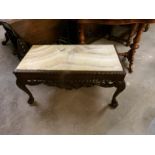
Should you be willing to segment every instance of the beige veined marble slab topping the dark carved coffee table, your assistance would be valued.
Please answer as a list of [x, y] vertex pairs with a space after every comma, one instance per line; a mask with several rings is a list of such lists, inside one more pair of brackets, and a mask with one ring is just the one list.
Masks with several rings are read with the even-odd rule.
[[113, 45], [33, 45], [17, 70], [122, 71]]

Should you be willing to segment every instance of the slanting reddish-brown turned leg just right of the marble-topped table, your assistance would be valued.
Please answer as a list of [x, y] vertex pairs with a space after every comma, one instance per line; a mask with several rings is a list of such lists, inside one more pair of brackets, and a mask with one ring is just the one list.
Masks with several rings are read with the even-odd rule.
[[129, 72], [131, 73], [132, 70], [132, 65], [134, 62], [134, 55], [136, 53], [136, 49], [139, 48], [139, 41], [141, 38], [141, 34], [145, 28], [146, 24], [139, 24], [138, 26], [138, 30], [137, 30], [137, 34], [135, 36], [135, 38], [133, 39], [133, 44], [131, 44], [131, 49], [128, 51], [128, 60], [129, 60]]

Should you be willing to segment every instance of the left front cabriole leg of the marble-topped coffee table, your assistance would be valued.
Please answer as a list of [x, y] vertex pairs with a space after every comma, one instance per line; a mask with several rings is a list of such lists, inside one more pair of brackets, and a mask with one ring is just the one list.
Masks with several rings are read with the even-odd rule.
[[25, 93], [28, 94], [28, 96], [29, 96], [28, 103], [33, 104], [34, 103], [34, 97], [32, 96], [31, 92], [28, 90], [28, 88], [25, 86], [25, 84], [18, 79], [16, 80], [16, 84], [20, 89], [22, 89]]

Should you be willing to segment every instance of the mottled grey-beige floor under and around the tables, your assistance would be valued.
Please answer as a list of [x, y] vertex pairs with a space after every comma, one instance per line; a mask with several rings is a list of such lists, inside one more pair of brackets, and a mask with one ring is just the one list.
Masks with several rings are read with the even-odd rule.
[[[111, 42], [95, 42], [101, 43]], [[118, 43], [117, 48], [128, 49]], [[155, 25], [143, 33], [134, 72], [127, 74], [127, 88], [115, 110], [107, 107], [114, 88], [100, 87], [29, 87], [37, 101], [29, 106], [28, 96], [15, 83], [18, 63], [11, 46], [0, 45], [0, 134], [155, 134]]]

